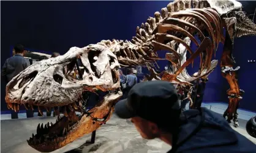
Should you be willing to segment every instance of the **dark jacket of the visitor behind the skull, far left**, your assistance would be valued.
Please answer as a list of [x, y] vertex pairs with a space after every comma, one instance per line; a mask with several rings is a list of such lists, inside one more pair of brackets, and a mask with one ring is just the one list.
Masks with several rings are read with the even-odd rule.
[[1, 76], [9, 82], [21, 71], [28, 68], [29, 65], [29, 60], [25, 59], [22, 55], [16, 54], [6, 60], [4, 66], [2, 66]]

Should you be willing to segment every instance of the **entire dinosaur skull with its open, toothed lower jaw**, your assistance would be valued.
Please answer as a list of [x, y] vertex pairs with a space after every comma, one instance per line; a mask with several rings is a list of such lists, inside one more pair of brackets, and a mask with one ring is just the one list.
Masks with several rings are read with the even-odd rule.
[[[81, 59], [84, 69], [79, 80], [70, 77], [67, 71], [74, 68], [77, 58]], [[42, 60], [14, 77], [6, 87], [9, 108], [17, 112], [20, 104], [30, 109], [36, 105], [39, 111], [40, 107], [59, 106], [64, 114], [55, 124], [48, 123], [44, 127], [39, 124], [36, 135], [32, 134], [28, 144], [37, 151], [51, 152], [104, 124], [122, 96], [118, 68], [116, 55], [110, 49], [92, 44], [85, 48], [70, 48], [66, 54]], [[79, 110], [76, 102], [80, 104], [83, 100], [81, 94], [96, 89], [111, 92], [93, 109], [83, 110], [79, 117], [76, 116], [75, 111]]]

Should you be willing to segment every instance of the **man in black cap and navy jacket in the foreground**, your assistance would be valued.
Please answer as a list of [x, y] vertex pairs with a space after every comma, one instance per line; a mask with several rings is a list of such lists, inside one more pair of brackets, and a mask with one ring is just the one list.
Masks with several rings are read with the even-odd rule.
[[181, 112], [176, 88], [155, 80], [136, 84], [115, 105], [122, 119], [131, 118], [141, 137], [160, 138], [169, 152], [256, 152], [256, 145], [206, 108]]

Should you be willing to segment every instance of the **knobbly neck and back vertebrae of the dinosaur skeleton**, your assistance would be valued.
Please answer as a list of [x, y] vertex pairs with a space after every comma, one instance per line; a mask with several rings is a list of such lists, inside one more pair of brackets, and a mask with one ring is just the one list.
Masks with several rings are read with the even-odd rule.
[[[157, 49], [154, 49], [152, 44], [157, 32], [157, 24], [161, 24], [165, 18], [171, 16], [171, 13], [179, 12], [179, 10], [200, 9], [207, 6], [207, 1], [198, 0], [176, 0], [170, 2], [160, 12], [155, 12], [154, 18], [149, 17], [146, 23], [141, 23], [140, 27], [137, 26], [136, 36], [132, 37], [132, 40], [102, 40], [97, 44], [109, 48], [118, 57], [121, 66], [146, 66], [148, 63], [154, 62], [154, 60], [160, 59], [155, 52]], [[191, 17], [183, 17], [183, 20], [193, 22]]]

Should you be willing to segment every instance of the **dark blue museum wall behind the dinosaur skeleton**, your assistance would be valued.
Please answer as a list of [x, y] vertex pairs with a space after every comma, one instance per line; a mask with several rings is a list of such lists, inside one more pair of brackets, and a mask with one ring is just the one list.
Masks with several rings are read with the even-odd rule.
[[[100, 40], [130, 40], [135, 30], [145, 23], [154, 12], [170, 1], [1, 1], [1, 67], [10, 57], [10, 46], [23, 43], [26, 48], [41, 51], [56, 51], [64, 54], [72, 46], [83, 47]], [[252, 97], [256, 85], [252, 73], [255, 65], [247, 58], [256, 59], [253, 47], [255, 37], [235, 41], [236, 62], [239, 70], [239, 84], [246, 91], [241, 107], [256, 111]], [[222, 45], [217, 51], [220, 59]], [[164, 52], [161, 52], [164, 56]], [[166, 61], [158, 62], [161, 70]], [[194, 71], [198, 59], [195, 60]], [[254, 67], [254, 69], [252, 68]], [[253, 71], [254, 70], [254, 71]], [[191, 72], [189, 68], [189, 72]], [[190, 73], [192, 74], [192, 73]], [[1, 82], [2, 83], [2, 82]], [[204, 101], [226, 101], [228, 84], [220, 75], [219, 66], [210, 74]], [[4, 85], [1, 84], [1, 110], [4, 104]]]

